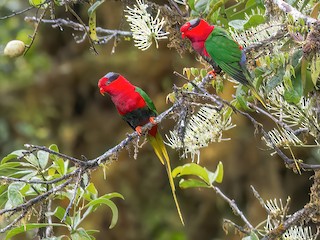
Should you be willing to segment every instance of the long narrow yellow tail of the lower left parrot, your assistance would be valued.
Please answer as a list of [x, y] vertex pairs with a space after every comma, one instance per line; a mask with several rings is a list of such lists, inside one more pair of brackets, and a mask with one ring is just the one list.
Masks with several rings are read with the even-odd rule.
[[166, 167], [168, 178], [169, 178], [169, 183], [170, 183], [170, 187], [171, 187], [171, 191], [172, 191], [172, 195], [173, 195], [173, 199], [174, 199], [174, 202], [176, 204], [176, 208], [177, 208], [181, 223], [182, 223], [182, 225], [184, 225], [182, 213], [181, 213], [180, 206], [179, 206], [178, 199], [177, 199], [176, 192], [175, 192], [176, 189], [175, 189], [173, 178], [172, 178], [172, 175], [171, 175], [170, 159], [169, 159], [169, 155], [168, 155], [167, 149], [166, 149], [166, 147], [165, 147], [165, 145], [163, 143], [162, 136], [160, 135], [159, 132], [157, 132], [155, 137], [149, 135], [148, 136], [148, 140], [149, 140], [150, 144], [152, 145], [152, 147], [153, 147], [157, 157], [159, 158], [160, 162], [163, 165], [165, 165], [165, 167]]

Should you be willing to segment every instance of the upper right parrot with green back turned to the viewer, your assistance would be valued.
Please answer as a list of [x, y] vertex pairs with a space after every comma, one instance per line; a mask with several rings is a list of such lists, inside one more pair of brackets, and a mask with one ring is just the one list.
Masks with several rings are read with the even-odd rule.
[[[191, 41], [193, 49], [205, 59], [212, 61], [237, 82], [247, 86], [253, 95], [266, 107], [254, 89], [251, 76], [246, 67], [246, 55], [226, 30], [210, 25], [204, 19], [196, 18], [186, 22], [181, 28], [181, 37]], [[212, 61], [211, 61], [212, 60]], [[215, 65], [213, 65], [216, 69]]]

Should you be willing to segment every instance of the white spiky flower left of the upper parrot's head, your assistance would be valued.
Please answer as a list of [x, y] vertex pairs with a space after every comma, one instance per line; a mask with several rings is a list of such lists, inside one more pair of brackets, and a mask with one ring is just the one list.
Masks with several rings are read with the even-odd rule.
[[158, 48], [158, 40], [166, 39], [169, 34], [162, 30], [165, 20], [159, 18], [159, 9], [157, 15], [153, 17], [147, 12], [148, 5], [144, 3], [144, 0], [136, 0], [136, 2], [137, 5], [134, 5], [133, 8], [127, 6], [128, 10], [125, 10], [128, 13], [125, 17], [129, 22], [135, 46], [143, 51], [147, 50], [154, 39]]

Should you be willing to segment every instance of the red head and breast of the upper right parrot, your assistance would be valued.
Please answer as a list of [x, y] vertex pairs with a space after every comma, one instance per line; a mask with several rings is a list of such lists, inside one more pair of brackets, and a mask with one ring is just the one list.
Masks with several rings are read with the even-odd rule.
[[201, 18], [192, 19], [186, 22], [181, 28], [182, 38], [188, 38], [194, 50], [198, 53], [209, 56], [205, 50], [205, 41], [207, 40], [210, 33], [213, 31], [214, 26]]

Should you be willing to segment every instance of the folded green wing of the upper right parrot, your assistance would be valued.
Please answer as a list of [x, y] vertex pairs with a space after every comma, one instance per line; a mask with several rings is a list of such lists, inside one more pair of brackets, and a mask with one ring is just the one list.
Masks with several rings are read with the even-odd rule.
[[210, 57], [223, 71], [244, 85], [250, 84], [242, 66], [245, 64], [245, 55], [227, 31], [215, 26], [205, 42], [205, 47]]

